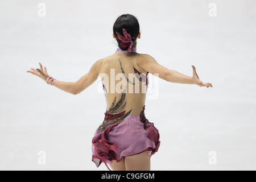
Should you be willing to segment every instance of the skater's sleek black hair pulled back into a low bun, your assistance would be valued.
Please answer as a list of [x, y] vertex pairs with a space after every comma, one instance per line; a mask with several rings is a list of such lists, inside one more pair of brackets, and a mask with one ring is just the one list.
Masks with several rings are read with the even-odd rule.
[[[123, 30], [122, 28], [125, 28], [127, 33], [131, 35], [131, 41], [135, 41], [139, 34], [139, 22], [137, 18], [130, 14], [122, 14], [115, 20], [114, 26], [113, 26], [113, 32], [118, 32], [118, 34], [123, 36]], [[126, 51], [128, 47], [123, 48], [121, 46], [121, 41], [117, 38], [117, 34], [115, 34], [115, 40], [117, 40], [118, 47], [121, 48], [123, 51]]]

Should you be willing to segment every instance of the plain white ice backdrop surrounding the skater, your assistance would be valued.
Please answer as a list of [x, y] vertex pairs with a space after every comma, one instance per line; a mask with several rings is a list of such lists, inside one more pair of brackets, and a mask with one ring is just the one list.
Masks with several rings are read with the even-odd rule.
[[[41, 2], [45, 17], [38, 15]], [[217, 16], [209, 16], [210, 3]], [[106, 110], [100, 80], [72, 95], [26, 71], [40, 61], [52, 77], [77, 81], [114, 53], [113, 23], [126, 13], [141, 26], [139, 53], [188, 76], [195, 65], [201, 81], [213, 84], [159, 80], [159, 95], [147, 98], [145, 110], [161, 141], [151, 169], [256, 169], [254, 0], [1, 0], [0, 7], [0, 169], [107, 169], [91, 161]], [[210, 151], [216, 164], [209, 164]]]

